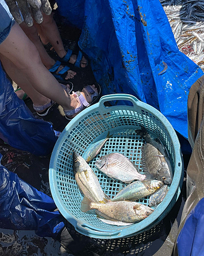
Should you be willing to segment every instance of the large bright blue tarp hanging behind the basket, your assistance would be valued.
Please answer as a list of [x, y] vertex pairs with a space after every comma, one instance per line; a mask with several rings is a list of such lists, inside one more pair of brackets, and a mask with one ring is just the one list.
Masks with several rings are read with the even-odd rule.
[[[203, 72], [177, 48], [159, 0], [57, 0], [57, 5], [69, 23], [82, 28], [79, 46], [103, 94], [135, 95], [188, 138], [188, 93]], [[168, 68], [158, 75], [163, 61]]]

